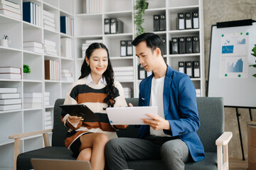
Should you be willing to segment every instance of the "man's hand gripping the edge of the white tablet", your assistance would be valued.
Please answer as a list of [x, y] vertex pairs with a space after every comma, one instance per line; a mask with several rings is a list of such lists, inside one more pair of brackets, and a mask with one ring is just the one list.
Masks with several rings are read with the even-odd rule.
[[142, 118], [143, 122], [146, 123], [146, 125], [151, 126], [154, 130], [171, 130], [170, 124], [168, 120], [165, 120], [162, 118], [160, 115], [154, 116], [151, 114], [146, 114], [149, 116], [149, 118], [152, 119], [147, 119], [147, 118]]

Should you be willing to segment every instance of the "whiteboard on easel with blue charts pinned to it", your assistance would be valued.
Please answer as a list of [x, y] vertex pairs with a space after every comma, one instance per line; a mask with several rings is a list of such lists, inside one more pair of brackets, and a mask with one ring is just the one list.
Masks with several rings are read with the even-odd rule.
[[256, 23], [252, 26], [212, 26], [208, 96], [223, 97], [224, 106], [256, 106]]

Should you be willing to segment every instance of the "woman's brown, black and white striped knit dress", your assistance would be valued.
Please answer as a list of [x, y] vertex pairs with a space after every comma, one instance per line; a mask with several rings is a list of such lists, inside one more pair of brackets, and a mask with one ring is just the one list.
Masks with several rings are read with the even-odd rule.
[[[88, 77], [90, 77], [90, 75]], [[72, 84], [70, 91], [68, 91], [66, 95], [64, 105], [85, 104], [100, 117], [100, 121], [86, 122], [86, 120], [83, 120], [74, 125], [68, 121], [68, 113], [63, 111], [61, 113], [61, 120], [65, 126], [70, 128], [65, 139], [65, 147], [68, 149], [70, 149], [70, 145], [78, 137], [87, 132], [102, 132], [112, 139], [117, 137], [115, 128], [124, 129], [127, 127], [127, 125], [116, 125], [114, 128], [110, 125], [107, 112], [103, 110], [103, 108], [107, 107], [107, 103], [104, 102], [107, 96], [107, 94], [105, 94], [106, 85], [104, 83], [95, 84], [93, 81], [88, 84], [86, 81], [88, 77], [79, 79]], [[114, 107], [127, 106], [122, 85], [118, 81], [114, 81], [114, 88], [116, 91], [114, 94]]]

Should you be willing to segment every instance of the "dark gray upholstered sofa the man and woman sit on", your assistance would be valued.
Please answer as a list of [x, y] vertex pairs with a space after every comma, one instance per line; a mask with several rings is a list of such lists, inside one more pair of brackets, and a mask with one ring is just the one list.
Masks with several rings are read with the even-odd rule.
[[[31, 152], [18, 154], [18, 157], [16, 159], [17, 162], [15, 162], [17, 169], [32, 169], [30, 162], [31, 158], [75, 159], [74, 157], [72, 157], [72, 152], [66, 149], [64, 145], [65, 135], [68, 128], [65, 128], [63, 123], [60, 121], [61, 108], [59, 106], [63, 104], [63, 102], [63, 98], [55, 101], [53, 137], [51, 146], [36, 149]], [[137, 106], [138, 98], [127, 98], [127, 103], [132, 103], [134, 106]], [[217, 169], [217, 149], [215, 141], [218, 139], [218, 137], [220, 137], [220, 135], [223, 134], [224, 130], [223, 98], [201, 97], [197, 98], [197, 103], [199, 118], [201, 120], [201, 127], [198, 130], [198, 135], [203, 142], [203, 146], [206, 152], [206, 158], [200, 162], [187, 162], [186, 169]], [[118, 137], [137, 137], [138, 130], [139, 128], [134, 128], [133, 125], [130, 125], [125, 130], [118, 130], [117, 135]], [[43, 131], [44, 136], [46, 136], [47, 132], [47, 130]], [[225, 145], [225, 142], [230, 140], [230, 136], [232, 137], [232, 134], [226, 134], [224, 137], [225, 139], [220, 139], [219, 143]], [[225, 140], [224, 143], [223, 140]], [[227, 157], [227, 155], [225, 155], [225, 157]], [[223, 158], [219, 158], [221, 165], [218, 166], [223, 166], [222, 159]], [[227, 164], [227, 160], [225, 161], [225, 164]], [[16, 167], [14, 167], [14, 169]], [[163, 169], [163, 164], [161, 160], [135, 160], [129, 161], [129, 168], [139, 170], [155, 170]]]

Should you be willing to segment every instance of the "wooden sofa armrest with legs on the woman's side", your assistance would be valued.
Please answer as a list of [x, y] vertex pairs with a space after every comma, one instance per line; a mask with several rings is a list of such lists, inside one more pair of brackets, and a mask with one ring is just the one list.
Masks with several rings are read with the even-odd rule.
[[14, 170], [16, 170], [16, 163], [18, 154], [21, 152], [21, 137], [30, 137], [34, 135], [43, 135], [43, 141], [46, 147], [50, 146], [48, 133], [52, 132], [52, 129], [49, 130], [38, 130], [34, 132], [25, 132], [25, 133], [18, 133], [15, 135], [9, 135], [9, 139], [14, 139]]

